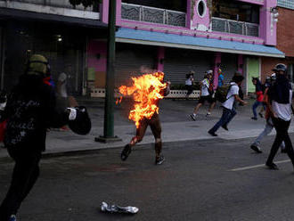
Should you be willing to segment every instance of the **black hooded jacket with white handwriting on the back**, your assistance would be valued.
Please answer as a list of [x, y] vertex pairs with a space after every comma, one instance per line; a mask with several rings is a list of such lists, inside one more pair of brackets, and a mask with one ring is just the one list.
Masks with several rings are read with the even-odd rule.
[[[8, 96], [2, 120], [7, 119], [4, 144], [15, 151], [45, 151], [46, 130], [67, 124], [68, 114], [55, 111], [52, 86], [37, 75], [22, 75]], [[24, 150], [22, 150], [24, 151]]]

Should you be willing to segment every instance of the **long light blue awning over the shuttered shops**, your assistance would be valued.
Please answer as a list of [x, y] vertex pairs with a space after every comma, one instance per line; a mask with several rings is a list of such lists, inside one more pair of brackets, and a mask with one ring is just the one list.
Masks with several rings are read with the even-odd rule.
[[158, 45], [220, 53], [241, 53], [248, 55], [284, 58], [285, 54], [274, 46], [256, 45], [205, 37], [180, 36], [155, 31], [118, 29], [116, 42]]

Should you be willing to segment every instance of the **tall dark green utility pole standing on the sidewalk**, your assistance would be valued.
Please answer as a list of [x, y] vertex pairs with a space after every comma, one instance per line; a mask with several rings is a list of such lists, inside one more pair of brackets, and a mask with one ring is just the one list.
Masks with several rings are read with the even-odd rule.
[[95, 137], [95, 141], [109, 143], [120, 141], [114, 135], [114, 62], [115, 62], [115, 31], [116, 31], [116, 2], [110, 0], [108, 16], [108, 38], [107, 38], [107, 74], [104, 104], [104, 130], [103, 136]]

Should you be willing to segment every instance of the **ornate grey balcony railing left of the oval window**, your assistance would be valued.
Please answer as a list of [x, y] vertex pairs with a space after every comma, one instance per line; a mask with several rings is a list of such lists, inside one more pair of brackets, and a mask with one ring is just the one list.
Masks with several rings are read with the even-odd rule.
[[186, 14], [184, 12], [176, 12], [137, 4], [123, 3], [121, 5], [121, 18], [125, 20], [146, 21], [180, 27], [185, 27], [186, 25]]

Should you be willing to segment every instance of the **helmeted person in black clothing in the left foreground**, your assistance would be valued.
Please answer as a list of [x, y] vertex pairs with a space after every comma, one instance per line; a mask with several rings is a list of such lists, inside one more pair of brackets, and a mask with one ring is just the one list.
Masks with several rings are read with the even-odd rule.
[[15, 161], [12, 183], [0, 206], [1, 221], [16, 220], [21, 202], [39, 176], [39, 161], [42, 151], [45, 151], [47, 129], [65, 125], [71, 114], [70, 110], [63, 113], [55, 111], [53, 87], [45, 82], [49, 75], [50, 67], [45, 57], [32, 55], [19, 84], [8, 96], [1, 116], [1, 120], [7, 120], [4, 145]]

